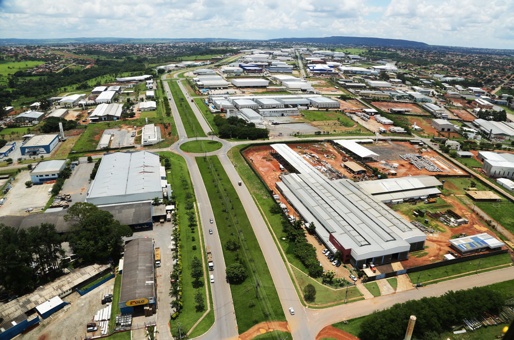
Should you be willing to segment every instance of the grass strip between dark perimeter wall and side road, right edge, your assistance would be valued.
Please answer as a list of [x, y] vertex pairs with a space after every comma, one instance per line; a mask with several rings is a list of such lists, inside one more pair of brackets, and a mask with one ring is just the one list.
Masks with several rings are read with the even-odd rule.
[[[479, 272], [483, 269], [506, 265], [508, 263], [512, 263], [509, 254], [500, 254], [494, 255], [469, 261], [464, 261], [461, 263], [454, 263], [453, 265], [438, 267], [427, 269], [421, 272], [409, 273], [409, 278], [413, 283], [416, 282], [425, 282], [430, 280], [435, 280], [439, 278], [444, 278], [451, 275], [458, 275], [467, 272], [473, 272], [476, 270], [480, 261]], [[418, 281], [419, 276], [419, 281]], [[451, 279], [451, 278], [449, 278]]]

